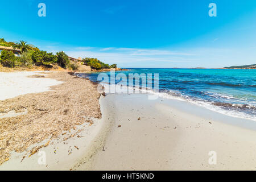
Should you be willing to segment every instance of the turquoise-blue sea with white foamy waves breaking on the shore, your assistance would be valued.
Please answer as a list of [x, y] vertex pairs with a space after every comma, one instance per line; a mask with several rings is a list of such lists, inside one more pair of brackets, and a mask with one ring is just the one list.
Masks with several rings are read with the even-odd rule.
[[[110, 75], [109, 72], [106, 72]], [[193, 102], [234, 117], [256, 120], [256, 69], [146, 69], [118, 73], [159, 73], [159, 94]], [[97, 81], [99, 73], [80, 74]], [[117, 82], [116, 82], [117, 83]]]

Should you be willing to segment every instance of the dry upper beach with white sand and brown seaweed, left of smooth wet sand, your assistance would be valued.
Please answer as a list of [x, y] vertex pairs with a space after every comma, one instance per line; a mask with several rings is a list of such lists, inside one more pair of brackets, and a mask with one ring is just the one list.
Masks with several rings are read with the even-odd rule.
[[[101, 118], [97, 85], [68, 72], [1, 75], [1, 90], [11, 92], [3, 92], [0, 101], [0, 170], [71, 169]], [[44, 166], [38, 164], [41, 149], [48, 158]]]

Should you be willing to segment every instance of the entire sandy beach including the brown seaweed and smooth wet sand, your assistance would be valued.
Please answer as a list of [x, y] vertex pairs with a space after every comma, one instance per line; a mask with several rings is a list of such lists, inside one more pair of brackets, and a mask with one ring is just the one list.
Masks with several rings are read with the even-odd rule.
[[249, 119], [147, 94], [100, 97], [96, 84], [67, 72], [1, 75], [9, 79], [1, 90], [21, 91], [0, 101], [0, 170], [256, 169]]

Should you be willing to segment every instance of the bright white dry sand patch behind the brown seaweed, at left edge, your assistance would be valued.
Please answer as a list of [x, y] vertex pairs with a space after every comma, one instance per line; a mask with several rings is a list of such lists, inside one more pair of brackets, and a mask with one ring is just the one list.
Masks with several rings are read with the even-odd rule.
[[28, 93], [49, 91], [49, 86], [61, 84], [51, 78], [29, 78], [30, 75], [44, 75], [40, 72], [0, 72], [0, 100], [6, 100]]

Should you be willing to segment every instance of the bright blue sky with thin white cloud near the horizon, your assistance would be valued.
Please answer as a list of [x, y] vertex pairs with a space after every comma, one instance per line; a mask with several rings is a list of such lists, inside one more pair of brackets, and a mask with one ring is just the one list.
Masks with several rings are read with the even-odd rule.
[[[210, 3], [217, 16], [209, 16]], [[7, 42], [119, 68], [256, 64], [255, 0], [13, 0], [1, 2], [0, 17]]]

